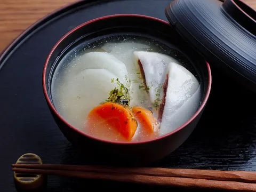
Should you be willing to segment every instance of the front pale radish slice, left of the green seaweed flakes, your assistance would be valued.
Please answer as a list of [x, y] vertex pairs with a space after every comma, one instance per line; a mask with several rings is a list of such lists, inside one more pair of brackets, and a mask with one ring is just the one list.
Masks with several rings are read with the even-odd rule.
[[[84, 127], [87, 114], [109, 98], [109, 92], [118, 87], [117, 78], [107, 69], [85, 69], [63, 84], [59, 89], [60, 103], [65, 119], [78, 129]], [[63, 89], [65, 87], [65, 89]], [[63, 91], [62, 91], [63, 90]], [[68, 90], [68, 91], [66, 91]]]

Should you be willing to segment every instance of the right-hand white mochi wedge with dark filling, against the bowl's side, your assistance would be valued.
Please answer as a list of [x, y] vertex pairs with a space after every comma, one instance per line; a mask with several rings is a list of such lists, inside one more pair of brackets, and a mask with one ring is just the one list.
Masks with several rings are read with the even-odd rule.
[[200, 84], [185, 67], [170, 62], [166, 69], [164, 97], [158, 111], [159, 135], [170, 133], [191, 118], [201, 101]]

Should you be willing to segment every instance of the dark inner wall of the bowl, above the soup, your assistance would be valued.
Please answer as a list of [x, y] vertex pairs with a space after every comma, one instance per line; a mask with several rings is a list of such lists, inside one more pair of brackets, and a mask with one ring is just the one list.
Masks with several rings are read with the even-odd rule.
[[172, 50], [170, 55], [180, 60], [198, 78], [202, 86], [201, 103], [205, 100], [209, 89], [209, 71], [206, 62], [201, 55], [183, 41], [169, 23], [143, 15], [111, 15], [78, 26], [62, 37], [54, 46], [45, 63], [44, 73], [46, 97], [49, 98], [51, 105], [54, 106], [51, 91], [53, 74], [60, 60], [67, 53], [74, 49], [83, 49], [87, 44], [105, 37], [115, 38], [122, 35], [146, 37], [170, 47]]

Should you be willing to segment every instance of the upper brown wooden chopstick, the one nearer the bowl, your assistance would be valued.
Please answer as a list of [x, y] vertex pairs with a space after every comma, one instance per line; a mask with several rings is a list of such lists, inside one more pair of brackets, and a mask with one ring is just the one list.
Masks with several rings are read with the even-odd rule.
[[86, 171], [111, 174], [139, 174], [158, 177], [179, 177], [191, 179], [207, 179], [219, 181], [237, 181], [246, 183], [256, 183], [256, 173], [249, 171], [217, 171], [217, 170], [197, 170], [197, 169], [166, 169], [151, 167], [108, 167], [91, 165], [23, 165], [13, 164], [12, 167], [41, 169], [41, 170], [69, 170]]

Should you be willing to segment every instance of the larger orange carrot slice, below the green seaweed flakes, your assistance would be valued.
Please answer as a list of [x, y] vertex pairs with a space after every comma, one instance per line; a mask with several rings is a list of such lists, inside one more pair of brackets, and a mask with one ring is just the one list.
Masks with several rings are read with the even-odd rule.
[[117, 130], [127, 140], [131, 140], [137, 130], [137, 121], [132, 111], [123, 105], [106, 102], [92, 109], [88, 115], [90, 123], [105, 121], [113, 129]]

